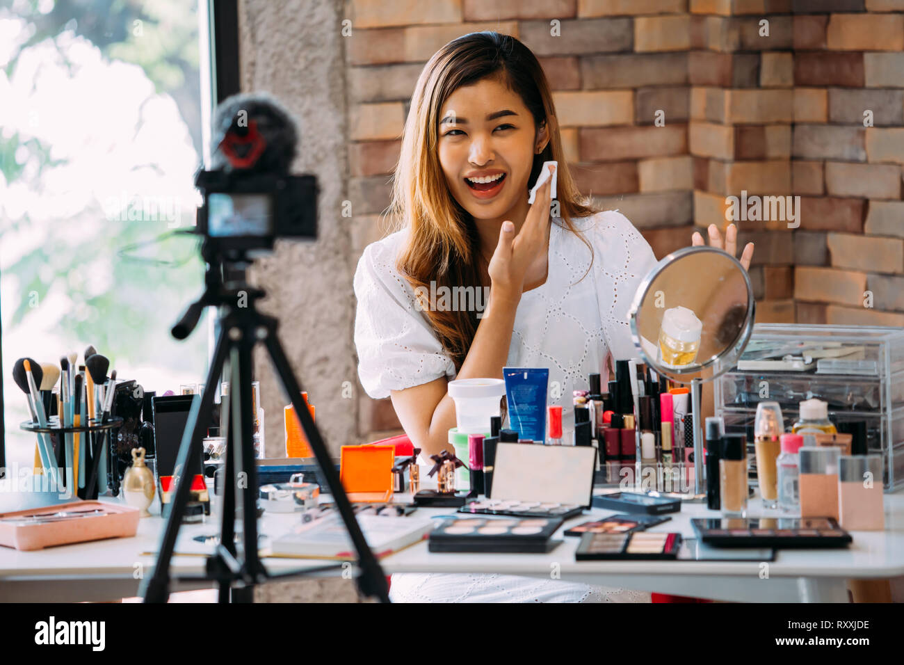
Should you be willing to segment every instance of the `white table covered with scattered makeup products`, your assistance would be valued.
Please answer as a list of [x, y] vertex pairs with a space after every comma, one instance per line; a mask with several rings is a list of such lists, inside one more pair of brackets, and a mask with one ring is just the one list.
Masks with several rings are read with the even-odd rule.
[[[118, 499], [108, 499], [118, 500]], [[778, 550], [768, 563], [767, 577], [760, 562], [693, 561], [575, 561], [579, 538], [562, 537], [564, 542], [549, 554], [453, 554], [428, 551], [427, 542], [411, 546], [381, 561], [391, 573], [505, 573], [548, 577], [553, 572], [562, 580], [587, 584], [620, 586], [640, 591], [680, 594], [715, 600], [772, 603], [846, 603], [845, 580], [875, 579], [904, 575], [904, 493], [885, 497], [886, 529], [880, 532], [852, 532], [848, 549]], [[419, 513], [443, 515], [452, 508], [420, 508]], [[570, 519], [565, 527], [616, 511], [594, 509]], [[787, 517], [778, 511], [763, 511], [757, 500], [751, 514]], [[684, 503], [672, 519], [651, 531], [679, 531], [694, 537], [692, 517], [718, 517], [703, 504]], [[265, 514], [260, 533], [278, 536], [294, 524], [297, 516]], [[154, 551], [164, 521], [159, 517], [141, 520], [136, 537], [117, 538], [80, 545], [53, 547], [36, 552], [19, 552], [0, 547], [0, 601], [70, 602], [109, 600], [134, 596], [139, 575], [150, 575], [155, 557], [141, 556]], [[207, 523], [184, 526], [180, 538], [218, 531]], [[564, 530], [564, 527], [563, 529]], [[181, 542], [181, 541], [180, 541]], [[315, 568], [330, 562], [265, 558], [272, 572]], [[171, 575], [202, 572], [201, 556], [174, 556]], [[339, 571], [335, 571], [335, 575]], [[173, 591], [212, 588], [211, 583], [174, 583]]]

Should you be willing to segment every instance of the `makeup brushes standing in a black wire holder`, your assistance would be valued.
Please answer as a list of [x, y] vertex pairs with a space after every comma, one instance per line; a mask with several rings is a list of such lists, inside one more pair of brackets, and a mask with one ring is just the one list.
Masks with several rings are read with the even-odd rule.
[[[24, 357], [15, 362], [13, 379], [28, 399], [32, 419], [22, 423], [35, 432], [34, 473], [80, 499], [96, 499], [108, 489], [108, 441], [121, 423], [113, 418], [116, 370], [89, 346], [60, 358], [60, 366]], [[54, 388], [59, 382], [59, 392]], [[134, 382], [132, 382], [134, 383]]]

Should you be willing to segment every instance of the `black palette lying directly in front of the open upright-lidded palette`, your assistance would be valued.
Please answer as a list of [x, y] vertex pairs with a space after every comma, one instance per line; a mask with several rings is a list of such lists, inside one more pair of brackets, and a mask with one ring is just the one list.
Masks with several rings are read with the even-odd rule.
[[445, 518], [430, 532], [430, 552], [551, 552], [561, 519]]

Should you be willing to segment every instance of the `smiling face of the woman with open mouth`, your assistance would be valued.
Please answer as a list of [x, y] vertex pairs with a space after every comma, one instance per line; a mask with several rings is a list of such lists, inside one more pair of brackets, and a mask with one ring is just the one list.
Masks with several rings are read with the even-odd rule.
[[440, 111], [439, 164], [458, 204], [475, 219], [498, 219], [526, 201], [547, 132], [537, 132], [521, 97], [497, 78], [484, 79], [458, 88]]

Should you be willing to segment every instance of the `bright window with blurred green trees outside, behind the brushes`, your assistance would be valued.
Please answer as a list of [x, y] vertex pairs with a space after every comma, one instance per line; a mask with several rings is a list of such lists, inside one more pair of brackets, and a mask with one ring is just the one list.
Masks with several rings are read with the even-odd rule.
[[184, 0], [0, 8], [7, 466], [33, 459], [16, 358], [58, 364], [90, 344], [158, 394], [203, 381], [206, 321], [184, 341], [169, 332], [202, 291], [196, 242], [152, 242], [194, 224], [198, 26]]

